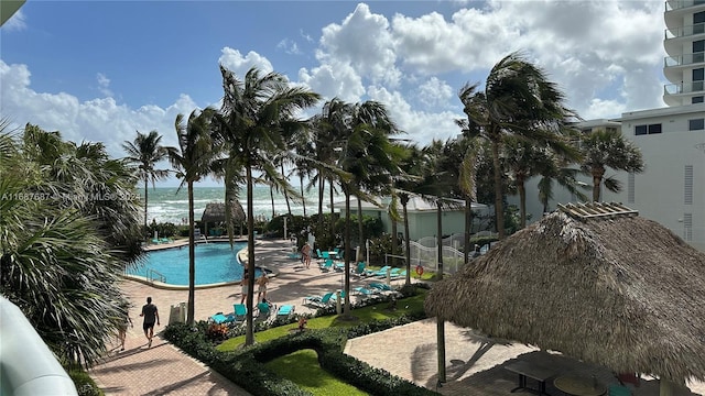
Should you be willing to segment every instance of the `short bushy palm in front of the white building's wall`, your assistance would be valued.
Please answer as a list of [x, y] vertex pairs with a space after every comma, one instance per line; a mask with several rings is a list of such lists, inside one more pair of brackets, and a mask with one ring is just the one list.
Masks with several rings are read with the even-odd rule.
[[600, 200], [600, 186], [612, 193], [621, 190], [621, 184], [614, 176], [605, 178], [607, 168], [641, 173], [644, 169], [641, 151], [627, 141], [616, 129], [599, 129], [587, 133], [582, 141], [585, 160], [581, 165], [584, 174], [593, 177], [593, 201]]

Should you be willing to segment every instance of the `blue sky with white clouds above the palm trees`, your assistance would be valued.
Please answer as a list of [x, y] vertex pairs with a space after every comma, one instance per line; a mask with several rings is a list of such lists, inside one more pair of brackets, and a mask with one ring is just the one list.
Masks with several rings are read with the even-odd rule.
[[[0, 29], [0, 116], [100, 141], [175, 145], [223, 97], [218, 64], [325, 99], [384, 103], [421, 144], [458, 133], [457, 92], [514, 51], [584, 119], [664, 107], [663, 1], [28, 1]], [[322, 105], [322, 103], [321, 103]], [[319, 108], [318, 108], [319, 109]], [[312, 109], [313, 113], [318, 109]], [[173, 183], [172, 183], [173, 185]]]

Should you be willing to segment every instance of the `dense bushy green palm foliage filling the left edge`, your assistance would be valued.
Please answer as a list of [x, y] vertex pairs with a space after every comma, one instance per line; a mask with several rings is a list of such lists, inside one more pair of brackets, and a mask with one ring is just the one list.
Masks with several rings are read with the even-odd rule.
[[0, 293], [66, 365], [89, 366], [123, 318], [119, 275], [135, 258], [131, 172], [99, 143], [26, 124], [0, 131]]

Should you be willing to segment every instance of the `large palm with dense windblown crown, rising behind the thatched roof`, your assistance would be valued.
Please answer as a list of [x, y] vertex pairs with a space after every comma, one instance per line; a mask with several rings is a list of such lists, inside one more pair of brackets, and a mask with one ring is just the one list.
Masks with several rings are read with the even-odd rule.
[[466, 84], [459, 91], [471, 128], [491, 142], [495, 167], [495, 217], [499, 238], [505, 238], [502, 208], [502, 167], [500, 152], [508, 134], [529, 143], [551, 145], [557, 131], [575, 118], [563, 106], [564, 96], [547, 80], [545, 73], [520, 53], [497, 63], [487, 77], [485, 91], [479, 84]]

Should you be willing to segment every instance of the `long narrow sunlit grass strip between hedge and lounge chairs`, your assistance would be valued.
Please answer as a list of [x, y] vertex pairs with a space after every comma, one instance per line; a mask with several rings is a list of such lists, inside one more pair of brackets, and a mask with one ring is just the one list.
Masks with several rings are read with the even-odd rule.
[[[311, 318], [308, 319], [306, 327], [308, 329], [351, 327], [360, 323], [368, 323], [372, 320], [398, 318], [408, 312], [423, 310], [423, 300], [426, 298], [426, 290], [419, 288], [417, 292], [419, 294], [413, 297], [399, 299], [397, 301], [395, 310], [387, 309], [389, 302], [380, 302], [352, 310], [351, 315], [356, 318], [356, 320], [345, 320], [339, 315], [330, 315], [325, 317]], [[291, 323], [260, 331], [254, 333], [254, 340], [257, 342], [274, 340], [291, 333], [292, 329], [296, 329], [297, 327], [297, 323]], [[217, 346], [217, 349], [219, 351], [232, 351], [236, 348], [240, 346], [242, 343], [245, 343], [245, 336], [235, 337], [223, 342]]]

